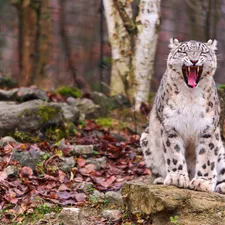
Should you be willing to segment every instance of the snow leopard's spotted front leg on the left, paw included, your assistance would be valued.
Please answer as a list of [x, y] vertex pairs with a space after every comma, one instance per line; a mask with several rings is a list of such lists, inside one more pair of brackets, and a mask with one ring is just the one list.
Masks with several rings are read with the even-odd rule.
[[167, 175], [165, 185], [187, 188], [189, 177], [185, 160], [184, 142], [175, 129], [163, 134], [164, 157]]

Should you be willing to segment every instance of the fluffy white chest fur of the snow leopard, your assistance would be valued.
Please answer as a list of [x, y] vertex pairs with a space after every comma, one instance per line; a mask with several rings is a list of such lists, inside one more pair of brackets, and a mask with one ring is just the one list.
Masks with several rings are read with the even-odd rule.
[[164, 108], [164, 124], [175, 128], [183, 138], [196, 138], [213, 121], [206, 112], [207, 100], [200, 93], [173, 96]]

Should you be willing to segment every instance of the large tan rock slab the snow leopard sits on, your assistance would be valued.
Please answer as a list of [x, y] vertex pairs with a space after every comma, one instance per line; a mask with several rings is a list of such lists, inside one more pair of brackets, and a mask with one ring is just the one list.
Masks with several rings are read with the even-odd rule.
[[197, 192], [174, 186], [147, 185], [129, 182], [122, 188], [127, 213], [145, 216], [145, 223], [153, 225], [220, 225], [220, 213], [225, 210], [225, 196]]

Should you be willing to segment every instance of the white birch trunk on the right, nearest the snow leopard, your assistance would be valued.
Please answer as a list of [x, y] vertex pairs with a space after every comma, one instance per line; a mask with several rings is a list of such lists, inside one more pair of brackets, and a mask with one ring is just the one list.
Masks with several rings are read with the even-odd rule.
[[148, 102], [150, 81], [153, 75], [156, 44], [160, 24], [160, 0], [141, 0], [139, 15], [136, 23], [139, 24], [134, 53], [134, 85], [133, 96], [135, 110], [140, 110], [142, 102]]

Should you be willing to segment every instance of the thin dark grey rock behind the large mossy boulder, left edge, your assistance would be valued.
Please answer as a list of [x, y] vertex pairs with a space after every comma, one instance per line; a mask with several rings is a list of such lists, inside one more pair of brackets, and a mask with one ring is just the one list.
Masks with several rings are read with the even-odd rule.
[[48, 101], [47, 94], [38, 88], [15, 88], [12, 90], [0, 90], [0, 100], [1, 101], [19, 101], [26, 102], [30, 100], [40, 99], [43, 101]]

